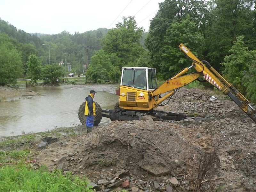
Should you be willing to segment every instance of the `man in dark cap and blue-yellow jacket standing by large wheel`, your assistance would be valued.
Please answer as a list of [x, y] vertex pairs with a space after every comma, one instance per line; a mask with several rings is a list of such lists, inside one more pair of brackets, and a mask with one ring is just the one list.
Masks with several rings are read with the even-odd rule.
[[87, 116], [86, 118], [86, 129], [87, 133], [92, 132], [92, 127], [94, 123], [94, 116], [96, 115], [95, 113], [95, 102], [93, 101], [95, 92], [93, 89], [90, 91], [90, 94], [85, 98], [85, 110], [84, 110], [84, 115]]

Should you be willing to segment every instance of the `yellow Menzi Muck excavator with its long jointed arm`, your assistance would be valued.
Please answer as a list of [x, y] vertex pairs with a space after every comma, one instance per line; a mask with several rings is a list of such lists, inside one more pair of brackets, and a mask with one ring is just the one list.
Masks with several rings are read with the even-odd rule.
[[[185, 119], [186, 116], [183, 113], [158, 111], [155, 110], [155, 108], [161, 105], [164, 100], [170, 98], [180, 87], [183, 87], [196, 79], [203, 79], [221, 90], [224, 94], [228, 95], [250, 118], [252, 118], [254, 122], [256, 122], [256, 110], [250, 105], [249, 100], [238, 92], [232, 84], [228, 83], [207, 61], [198, 60], [198, 58], [196, 58], [184, 44], [180, 44], [179, 47], [180, 50], [192, 60], [192, 65], [190, 67], [184, 68], [178, 74], [166, 80], [159, 87], [157, 87], [156, 83], [155, 68], [122, 68], [120, 89], [117, 90], [117, 94], [119, 95], [118, 107], [113, 110], [99, 109], [98, 115], [108, 117], [112, 121], [140, 120], [141, 116], [144, 116], [145, 114], [155, 116], [155, 120]], [[186, 75], [189, 69], [193, 67], [196, 69], [196, 72]], [[163, 93], [166, 94], [161, 97], [160, 95]], [[98, 123], [96, 122], [96, 124]]]

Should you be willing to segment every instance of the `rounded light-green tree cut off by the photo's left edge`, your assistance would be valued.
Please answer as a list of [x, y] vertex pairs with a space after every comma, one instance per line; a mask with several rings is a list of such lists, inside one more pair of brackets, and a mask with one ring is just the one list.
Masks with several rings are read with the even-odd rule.
[[0, 86], [12, 84], [21, 75], [21, 56], [10, 38], [0, 33]]

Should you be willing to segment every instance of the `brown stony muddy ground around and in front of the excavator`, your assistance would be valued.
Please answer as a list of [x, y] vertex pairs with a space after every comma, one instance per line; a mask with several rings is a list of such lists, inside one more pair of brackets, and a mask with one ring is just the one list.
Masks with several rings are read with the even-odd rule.
[[86, 176], [105, 192], [256, 191], [256, 124], [233, 101], [220, 92], [181, 88], [158, 109], [206, 119], [160, 122], [145, 116], [89, 134], [80, 125], [50, 137], [37, 134], [16, 150], [30, 148], [28, 160], [37, 160], [36, 167]]

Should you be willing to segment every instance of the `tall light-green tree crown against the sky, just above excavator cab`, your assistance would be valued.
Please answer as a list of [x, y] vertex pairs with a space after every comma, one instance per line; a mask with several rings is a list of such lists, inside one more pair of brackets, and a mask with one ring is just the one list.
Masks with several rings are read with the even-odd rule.
[[103, 50], [116, 53], [124, 64], [137, 60], [146, 51], [140, 44], [142, 33], [143, 28], [137, 27], [134, 17], [123, 17], [123, 23], [118, 22], [103, 38]]

